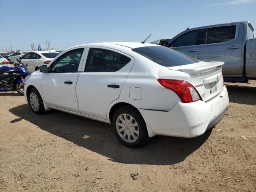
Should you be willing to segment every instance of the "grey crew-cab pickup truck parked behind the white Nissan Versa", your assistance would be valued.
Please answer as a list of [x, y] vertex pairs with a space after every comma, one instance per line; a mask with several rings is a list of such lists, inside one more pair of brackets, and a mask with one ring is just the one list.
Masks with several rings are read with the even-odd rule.
[[256, 79], [256, 39], [249, 22], [234, 22], [187, 29], [168, 41], [152, 42], [171, 47], [202, 61], [224, 61], [226, 82]]

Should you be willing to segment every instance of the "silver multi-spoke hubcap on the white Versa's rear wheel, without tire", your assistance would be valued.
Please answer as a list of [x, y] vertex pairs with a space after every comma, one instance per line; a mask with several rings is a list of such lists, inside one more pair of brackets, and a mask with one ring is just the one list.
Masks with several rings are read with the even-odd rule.
[[116, 130], [122, 140], [133, 143], [135, 142], [139, 135], [140, 129], [138, 123], [130, 114], [120, 114], [116, 120]]

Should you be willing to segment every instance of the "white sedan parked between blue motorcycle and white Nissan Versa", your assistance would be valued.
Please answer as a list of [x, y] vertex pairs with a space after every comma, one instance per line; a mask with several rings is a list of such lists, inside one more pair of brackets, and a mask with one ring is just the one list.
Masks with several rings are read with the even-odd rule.
[[39, 67], [48, 64], [59, 52], [56, 51], [32, 51], [22, 56], [22, 62], [27, 66], [29, 72], [39, 70]]

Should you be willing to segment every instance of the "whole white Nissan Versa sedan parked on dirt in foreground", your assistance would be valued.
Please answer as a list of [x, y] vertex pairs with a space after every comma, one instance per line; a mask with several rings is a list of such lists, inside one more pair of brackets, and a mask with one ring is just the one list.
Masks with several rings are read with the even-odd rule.
[[128, 147], [149, 137], [195, 137], [228, 108], [224, 62], [202, 62], [148, 43], [84, 44], [25, 79], [36, 114], [56, 109], [110, 123]]

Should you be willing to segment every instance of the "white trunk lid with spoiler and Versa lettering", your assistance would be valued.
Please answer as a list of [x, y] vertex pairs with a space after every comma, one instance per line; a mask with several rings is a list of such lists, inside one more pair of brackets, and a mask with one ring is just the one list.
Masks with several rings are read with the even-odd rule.
[[194, 64], [168, 67], [191, 76], [191, 84], [196, 88], [203, 101], [218, 95], [223, 89], [222, 66], [224, 62], [197, 62]]

